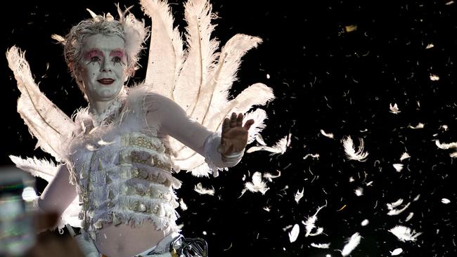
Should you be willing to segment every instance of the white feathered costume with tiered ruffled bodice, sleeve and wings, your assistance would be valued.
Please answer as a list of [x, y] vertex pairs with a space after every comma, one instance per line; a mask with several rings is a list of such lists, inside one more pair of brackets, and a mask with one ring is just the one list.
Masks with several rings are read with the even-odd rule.
[[[209, 2], [189, 0], [184, 49], [167, 3], [141, 0], [141, 6], [153, 20], [146, 79], [122, 91], [100, 117], [87, 109], [67, 117], [39, 91], [19, 49], [7, 52], [22, 93], [18, 112], [37, 146], [66, 164], [70, 182], [77, 185], [79, 197], [64, 211], [59, 228], [70, 224], [94, 231], [102, 223], [140, 225], [146, 219], [158, 229], [176, 226], [174, 188], [181, 183], [172, 173], [184, 169], [195, 176], [217, 176], [220, 168], [239, 161], [221, 161], [216, 150], [220, 137], [211, 132], [219, 131], [231, 112], [255, 119], [248, 143], [264, 128], [265, 112], [250, 110], [274, 98], [271, 88], [254, 84], [228, 100], [240, 58], [261, 39], [237, 34], [217, 52], [219, 42], [210, 39], [214, 25]], [[122, 15], [121, 21], [131, 38], [126, 48], [138, 52], [141, 42], [134, 42], [142, 41], [144, 24], [132, 14]], [[148, 124], [146, 115], [156, 115], [156, 122]], [[34, 176], [48, 181], [56, 176], [52, 162], [11, 159]]]

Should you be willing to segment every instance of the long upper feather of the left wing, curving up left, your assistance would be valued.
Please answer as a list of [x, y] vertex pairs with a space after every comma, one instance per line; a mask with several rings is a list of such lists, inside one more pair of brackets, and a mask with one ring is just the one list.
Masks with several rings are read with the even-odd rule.
[[24, 119], [32, 136], [37, 138], [37, 147], [59, 161], [66, 156], [66, 146], [75, 130], [75, 124], [39, 91], [24, 53], [19, 48], [13, 46], [8, 49], [6, 58], [21, 93], [18, 100], [20, 117]]

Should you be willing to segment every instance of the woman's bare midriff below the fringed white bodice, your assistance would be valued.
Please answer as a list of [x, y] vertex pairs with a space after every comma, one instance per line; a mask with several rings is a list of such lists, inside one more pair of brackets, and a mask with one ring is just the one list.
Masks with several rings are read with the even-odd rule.
[[124, 223], [103, 224], [103, 227], [96, 231], [95, 245], [104, 256], [132, 257], [152, 248], [170, 232], [170, 228], [157, 230], [155, 224], [149, 220], [136, 228]]

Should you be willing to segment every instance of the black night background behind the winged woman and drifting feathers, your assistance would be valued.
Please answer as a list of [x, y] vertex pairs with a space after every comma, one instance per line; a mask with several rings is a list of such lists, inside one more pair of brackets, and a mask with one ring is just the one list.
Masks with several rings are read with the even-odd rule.
[[[176, 25], [184, 29], [182, 4], [172, 3]], [[85, 8], [115, 13], [114, 2], [10, 4], [4, 10], [1, 50], [16, 45], [27, 51], [41, 90], [71, 115], [86, 103], [67, 73], [62, 47], [51, 34], [66, 34], [79, 20], [89, 18]], [[135, 5], [132, 12], [143, 17], [136, 1], [120, 4]], [[456, 158], [450, 157], [456, 149], [442, 150], [435, 141], [457, 142], [457, 103], [451, 93], [457, 75], [457, 3], [218, 0], [212, 4], [219, 15], [213, 35], [221, 45], [236, 33], [264, 39], [243, 58], [231, 93], [256, 82], [271, 86], [276, 100], [264, 107], [269, 119], [262, 136], [267, 145], [274, 145], [290, 135], [290, 145], [284, 154], [245, 154], [238, 166], [219, 178], [177, 174], [184, 182], [177, 194], [188, 206], [186, 211], [178, 209], [184, 235], [204, 237], [210, 256], [341, 256], [340, 250], [356, 232], [361, 242], [351, 256], [390, 256], [397, 248], [403, 249], [400, 256], [456, 256], [457, 197], [452, 181], [457, 169]], [[8, 154], [48, 157], [34, 150], [36, 142], [15, 110], [19, 93], [6, 58], [1, 65], [1, 110], [6, 117], [1, 164], [11, 164]], [[134, 81], [141, 81], [144, 72], [139, 70]], [[395, 103], [397, 114], [390, 112]], [[420, 124], [422, 129], [413, 129]], [[333, 133], [333, 138], [321, 130]], [[358, 138], [363, 139], [365, 162], [346, 157], [342, 145], [346, 136], [356, 147]], [[404, 152], [411, 157], [401, 161]], [[404, 167], [398, 172], [393, 164]], [[269, 190], [264, 195], [245, 192], [240, 197], [257, 171], [273, 175], [281, 171], [281, 176], [266, 180]], [[195, 192], [197, 183], [214, 187], [214, 196]], [[44, 185], [39, 180], [41, 190]], [[361, 196], [354, 192], [359, 187]], [[299, 203], [294, 197], [298, 190], [303, 190]], [[450, 203], [443, 204], [444, 198]], [[408, 208], [387, 215], [387, 204], [398, 199], [403, 199], [399, 209], [409, 203]], [[323, 205], [315, 223], [323, 233], [305, 237], [302, 221]], [[413, 218], [405, 221], [409, 213]], [[365, 219], [369, 223], [362, 226]], [[295, 224], [300, 234], [291, 243], [288, 233]], [[396, 225], [423, 234], [416, 242], [400, 242], [389, 232]], [[330, 243], [330, 247], [317, 249], [311, 243]]]

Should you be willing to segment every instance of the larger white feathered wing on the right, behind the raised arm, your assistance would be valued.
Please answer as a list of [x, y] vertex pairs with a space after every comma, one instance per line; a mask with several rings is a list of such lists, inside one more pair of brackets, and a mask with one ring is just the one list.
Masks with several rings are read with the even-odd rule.
[[[179, 32], [172, 27], [166, 1], [142, 0], [141, 4], [153, 19], [153, 37], [145, 82], [153, 84], [154, 91], [178, 103], [189, 117], [207, 129], [217, 131], [231, 112], [246, 113], [253, 105], [265, 105], [274, 98], [271, 88], [264, 84], [254, 84], [228, 101], [228, 91], [236, 80], [240, 59], [262, 40], [237, 34], [217, 53], [219, 42], [211, 39], [214, 30], [211, 20], [214, 14], [208, 0], [188, 0], [184, 6], [188, 24], [185, 52], [182, 50]], [[167, 15], [151, 15], [156, 12], [164, 14], [160, 10], [166, 10]], [[255, 124], [250, 128], [249, 142], [252, 142], [255, 135], [264, 128], [266, 114], [257, 109], [247, 114], [247, 119], [255, 119]], [[176, 152], [174, 163], [181, 169], [192, 171], [195, 176], [209, 174], [210, 169], [200, 154], [173, 138], [170, 138], [170, 145]]]

